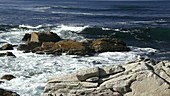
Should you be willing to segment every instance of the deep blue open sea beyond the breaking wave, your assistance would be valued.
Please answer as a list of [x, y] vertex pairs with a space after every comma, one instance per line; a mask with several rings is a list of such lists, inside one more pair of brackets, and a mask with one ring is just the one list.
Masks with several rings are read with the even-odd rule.
[[169, 27], [169, 5], [169, 1], [0, 0], [0, 23]]

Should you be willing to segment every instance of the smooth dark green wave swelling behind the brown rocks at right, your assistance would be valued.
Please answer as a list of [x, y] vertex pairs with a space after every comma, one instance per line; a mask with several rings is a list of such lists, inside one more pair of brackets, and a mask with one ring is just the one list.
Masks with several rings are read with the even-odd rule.
[[80, 32], [87, 38], [114, 37], [123, 40], [170, 41], [170, 28], [93, 28]]

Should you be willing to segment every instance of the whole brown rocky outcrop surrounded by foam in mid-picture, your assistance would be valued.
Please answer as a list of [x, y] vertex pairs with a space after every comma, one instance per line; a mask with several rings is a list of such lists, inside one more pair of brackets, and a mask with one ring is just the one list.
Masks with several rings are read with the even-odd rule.
[[25, 34], [23, 41], [26, 44], [20, 44], [18, 50], [24, 52], [35, 52], [37, 54], [60, 55], [94, 55], [100, 52], [130, 51], [126, 43], [115, 38], [101, 38], [89, 40], [87, 42], [78, 42], [73, 40], [61, 40], [61, 38], [52, 32]]

